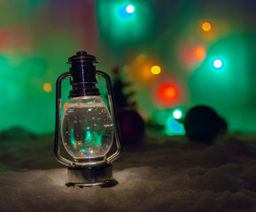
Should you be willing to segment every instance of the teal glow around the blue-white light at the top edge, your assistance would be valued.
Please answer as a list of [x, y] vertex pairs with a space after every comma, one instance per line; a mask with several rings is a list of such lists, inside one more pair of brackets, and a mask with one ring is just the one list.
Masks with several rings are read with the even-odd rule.
[[151, 1], [98, 1], [96, 9], [100, 34], [113, 48], [154, 38], [156, 11]]

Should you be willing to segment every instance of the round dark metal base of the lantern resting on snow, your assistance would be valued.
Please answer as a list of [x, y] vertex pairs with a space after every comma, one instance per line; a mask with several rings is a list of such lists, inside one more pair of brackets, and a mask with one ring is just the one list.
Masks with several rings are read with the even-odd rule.
[[118, 181], [112, 178], [112, 163], [101, 163], [95, 166], [68, 167], [66, 186], [101, 186], [112, 187]]

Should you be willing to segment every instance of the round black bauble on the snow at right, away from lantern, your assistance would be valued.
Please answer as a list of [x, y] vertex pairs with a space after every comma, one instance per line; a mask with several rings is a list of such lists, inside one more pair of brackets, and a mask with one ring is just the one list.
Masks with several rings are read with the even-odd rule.
[[210, 107], [195, 106], [191, 108], [183, 120], [187, 137], [191, 141], [211, 143], [221, 132], [224, 119]]

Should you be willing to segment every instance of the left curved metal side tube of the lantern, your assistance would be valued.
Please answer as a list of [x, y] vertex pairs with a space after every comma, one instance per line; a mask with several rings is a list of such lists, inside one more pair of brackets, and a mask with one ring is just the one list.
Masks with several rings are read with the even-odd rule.
[[71, 166], [72, 162], [62, 157], [59, 153], [59, 137], [60, 137], [60, 119], [61, 119], [61, 83], [64, 79], [71, 78], [70, 72], [61, 74], [56, 82], [56, 120], [55, 120], [55, 140], [54, 140], [54, 155], [58, 163], [66, 166]]

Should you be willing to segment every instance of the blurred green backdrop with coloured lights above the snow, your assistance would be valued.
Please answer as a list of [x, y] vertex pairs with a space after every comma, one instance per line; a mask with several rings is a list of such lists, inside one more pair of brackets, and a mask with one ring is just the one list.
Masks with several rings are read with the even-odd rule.
[[78, 50], [111, 76], [120, 67], [123, 92], [168, 135], [183, 133], [173, 112], [196, 104], [256, 133], [255, 1], [1, 0], [0, 131], [53, 133], [55, 82]]

